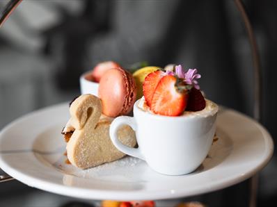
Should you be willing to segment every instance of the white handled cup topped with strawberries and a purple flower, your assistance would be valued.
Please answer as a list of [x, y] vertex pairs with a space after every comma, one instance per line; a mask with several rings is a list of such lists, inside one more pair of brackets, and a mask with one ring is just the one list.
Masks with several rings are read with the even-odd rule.
[[[216, 131], [218, 106], [203, 97], [196, 69], [157, 70], [143, 82], [144, 97], [134, 104], [134, 117], [113, 120], [110, 136], [121, 151], [145, 160], [161, 174], [182, 175], [196, 170], [207, 157]], [[139, 149], [118, 144], [120, 124], [136, 129]], [[154, 149], [154, 150], [153, 150]]]

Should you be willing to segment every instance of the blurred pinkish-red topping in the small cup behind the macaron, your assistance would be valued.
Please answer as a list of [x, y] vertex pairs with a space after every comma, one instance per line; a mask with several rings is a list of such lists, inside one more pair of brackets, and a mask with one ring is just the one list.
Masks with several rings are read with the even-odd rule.
[[93, 81], [99, 83], [100, 79], [102, 78], [103, 74], [108, 69], [114, 69], [114, 68], [121, 68], [120, 65], [113, 61], [106, 61], [102, 63], [98, 63], [94, 68], [93, 72], [91, 73], [91, 76], [93, 77]]

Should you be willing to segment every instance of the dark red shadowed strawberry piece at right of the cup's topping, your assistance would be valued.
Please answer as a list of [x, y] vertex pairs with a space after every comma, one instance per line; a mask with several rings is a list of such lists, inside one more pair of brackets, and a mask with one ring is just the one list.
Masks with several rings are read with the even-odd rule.
[[200, 90], [191, 88], [186, 110], [198, 111], [203, 110], [205, 107], [206, 101], [203, 97], [203, 94], [200, 92]]

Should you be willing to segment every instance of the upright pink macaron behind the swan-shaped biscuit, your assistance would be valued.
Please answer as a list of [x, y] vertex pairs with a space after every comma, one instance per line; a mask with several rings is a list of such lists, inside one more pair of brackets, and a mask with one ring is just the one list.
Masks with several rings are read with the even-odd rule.
[[127, 115], [136, 101], [136, 82], [124, 69], [106, 71], [98, 88], [102, 100], [102, 113], [108, 117]]

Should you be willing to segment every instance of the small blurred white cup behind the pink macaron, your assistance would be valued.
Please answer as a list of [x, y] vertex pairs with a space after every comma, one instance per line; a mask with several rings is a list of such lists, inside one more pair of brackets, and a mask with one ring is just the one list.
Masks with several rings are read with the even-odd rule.
[[80, 77], [81, 94], [93, 94], [98, 97], [99, 83], [89, 81], [86, 77], [90, 72], [86, 72]]

